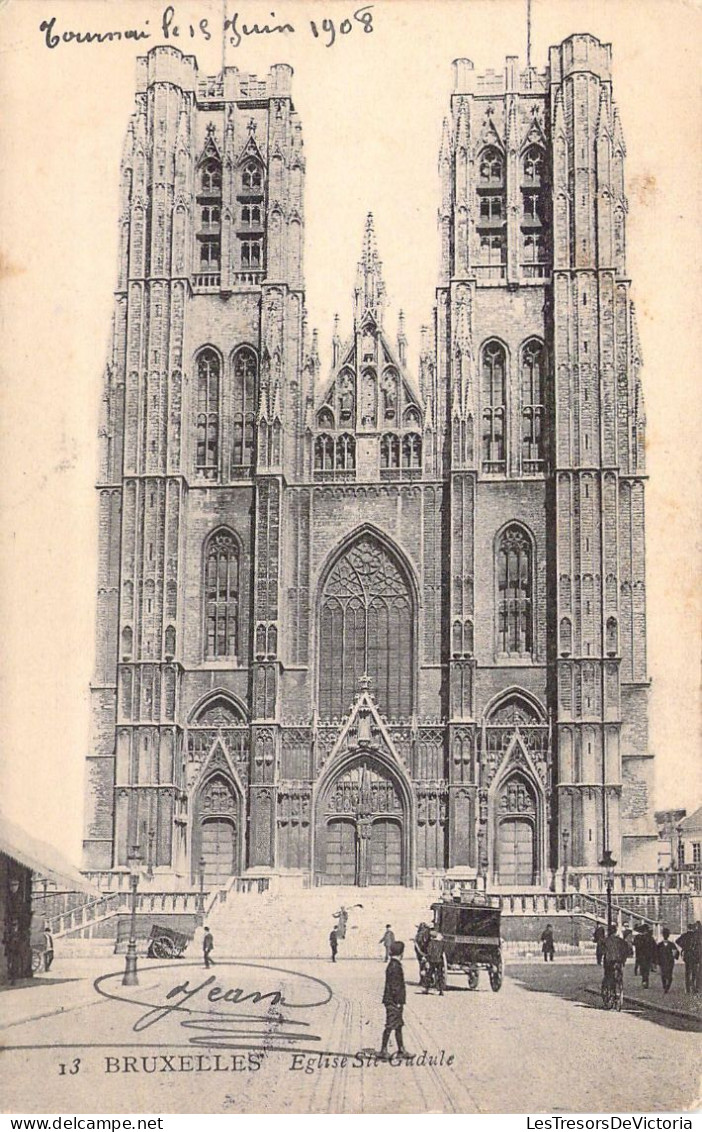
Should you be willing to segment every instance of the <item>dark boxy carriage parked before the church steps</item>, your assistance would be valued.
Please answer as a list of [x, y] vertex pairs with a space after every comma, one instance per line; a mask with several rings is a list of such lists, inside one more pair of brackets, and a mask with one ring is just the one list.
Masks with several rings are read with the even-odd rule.
[[488, 972], [493, 990], [499, 990], [504, 975], [499, 900], [462, 895], [431, 904], [431, 934], [443, 942], [447, 970], [464, 971], [469, 990], [476, 990], [482, 968]]

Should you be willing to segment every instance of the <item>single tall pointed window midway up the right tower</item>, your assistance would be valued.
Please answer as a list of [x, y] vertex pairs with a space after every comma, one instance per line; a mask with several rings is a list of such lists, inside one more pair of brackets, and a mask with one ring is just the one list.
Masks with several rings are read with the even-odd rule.
[[533, 652], [533, 544], [516, 523], [499, 535], [496, 547], [497, 652], [529, 657]]

